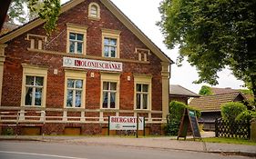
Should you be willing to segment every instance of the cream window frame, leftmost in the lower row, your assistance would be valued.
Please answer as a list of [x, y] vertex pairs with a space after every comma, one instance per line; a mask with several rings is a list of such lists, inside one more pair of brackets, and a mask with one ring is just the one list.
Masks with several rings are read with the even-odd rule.
[[[23, 78], [22, 78], [22, 91], [21, 91], [21, 106], [46, 107], [46, 85], [47, 85], [48, 68], [42, 67], [42, 66], [36, 66], [36, 65], [26, 65], [26, 64], [22, 64], [22, 66], [23, 66]], [[28, 86], [26, 85], [26, 76], [38, 76], [38, 77], [44, 78], [43, 86], [29, 85], [29, 87], [33, 87], [33, 89], [36, 89], [36, 87], [42, 88], [41, 105], [35, 105], [35, 99], [34, 99], [34, 102], [32, 101], [31, 105], [26, 105], [26, 87]], [[33, 94], [33, 95], [36, 95], [36, 94]]]

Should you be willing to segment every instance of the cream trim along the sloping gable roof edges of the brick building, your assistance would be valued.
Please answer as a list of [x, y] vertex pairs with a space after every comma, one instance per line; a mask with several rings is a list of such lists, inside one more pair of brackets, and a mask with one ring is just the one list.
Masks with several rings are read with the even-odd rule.
[[[66, 4], [62, 5], [60, 14], [66, 12], [70, 8], [79, 5], [80, 3], [84, 2], [86, 0], [72, 0], [67, 2]], [[134, 35], [138, 37], [138, 39], [144, 43], [144, 45], [147, 45], [148, 48], [159, 57], [159, 59], [162, 62], [167, 62], [170, 64], [174, 64], [174, 62], [165, 55], [157, 45], [155, 45], [148, 36], [144, 35], [141, 30], [138, 29], [136, 25], [134, 25], [126, 15], [124, 15], [116, 5], [114, 5], [110, 0], [100, 0], [100, 2], [105, 5], [108, 10], [113, 14], [116, 15], [118, 20], [122, 22], [123, 25], [125, 25]], [[12, 32], [7, 33], [6, 35], [0, 36], [0, 44], [5, 44], [6, 42], [14, 39], [18, 35], [22, 35], [26, 33], [27, 31], [35, 28], [38, 25], [42, 25], [45, 23], [44, 20], [36, 18], [35, 20], [27, 23], [26, 25], [22, 25], [18, 27], [17, 29], [13, 30]]]

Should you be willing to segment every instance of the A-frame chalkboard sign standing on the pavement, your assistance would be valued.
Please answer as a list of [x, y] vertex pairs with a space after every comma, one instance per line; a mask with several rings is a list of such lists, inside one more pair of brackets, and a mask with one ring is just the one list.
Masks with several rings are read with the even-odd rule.
[[194, 139], [201, 139], [196, 112], [186, 108], [184, 109], [184, 113], [179, 124], [179, 134], [177, 140], [179, 140], [179, 137], [184, 137], [186, 140], [189, 128], [191, 128]]

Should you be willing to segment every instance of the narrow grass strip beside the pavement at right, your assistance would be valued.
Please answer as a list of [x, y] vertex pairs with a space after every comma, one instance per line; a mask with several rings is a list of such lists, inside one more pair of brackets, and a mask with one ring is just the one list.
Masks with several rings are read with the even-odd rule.
[[[193, 139], [188, 139], [193, 141]], [[200, 139], [196, 139], [196, 141], [200, 142]], [[207, 143], [223, 143], [223, 144], [248, 144], [248, 145], [256, 145], [256, 142], [246, 139], [239, 138], [224, 138], [224, 137], [209, 137], [203, 138], [202, 141]]]

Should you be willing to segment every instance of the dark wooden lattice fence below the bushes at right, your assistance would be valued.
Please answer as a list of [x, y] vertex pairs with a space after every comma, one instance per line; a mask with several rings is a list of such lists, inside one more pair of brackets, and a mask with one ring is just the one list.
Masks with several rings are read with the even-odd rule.
[[250, 121], [230, 122], [222, 118], [216, 119], [215, 136], [250, 139], [250, 126]]

